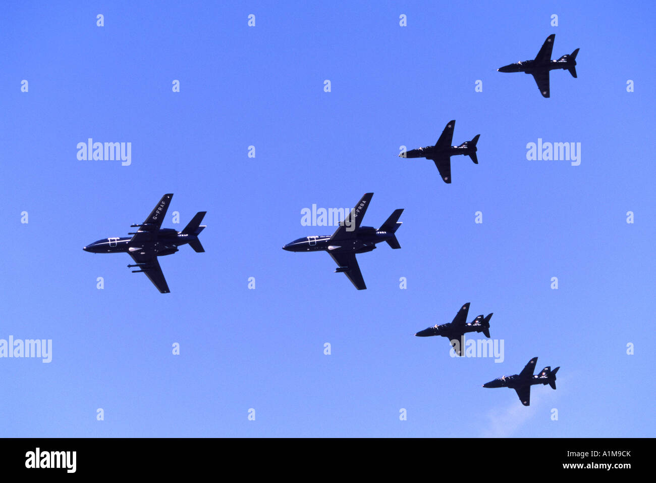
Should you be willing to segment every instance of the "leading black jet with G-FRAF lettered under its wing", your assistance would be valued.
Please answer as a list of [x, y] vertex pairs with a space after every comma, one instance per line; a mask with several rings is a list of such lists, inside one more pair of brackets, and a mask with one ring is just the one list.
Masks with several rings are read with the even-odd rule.
[[199, 233], [205, 228], [201, 225], [203, 217], [207, 212], [198, 212], [192, 221], [184, 227], [182, 231], [176, 231], [173, 228], [161, 228], [162, 221], [166, 215], [169, 204], [171, 204], [173, 194], [162, 196], [155, 209], [148, 215], [146, 221], [140, 225], [130, 225], [139, 229], [133, 235], [127, 238], [104, 238], [89, 244], [82, 248], [86, 252], [92, 253], [118, 253], [126, 252], [136, 262], [128, 267], [139, 267], [139, 270], [133, 270], [133, 273], [143, 272], [150, 279], [155, 287], [163, 294], [169, 293], [169, 286], [166, 283], [164, 274], [157, 262], [158, 256], [171, 255], [178, 251], [178, 246], [188, 243], [196, 252], [204, 252], [205, 248], [198, 239]]

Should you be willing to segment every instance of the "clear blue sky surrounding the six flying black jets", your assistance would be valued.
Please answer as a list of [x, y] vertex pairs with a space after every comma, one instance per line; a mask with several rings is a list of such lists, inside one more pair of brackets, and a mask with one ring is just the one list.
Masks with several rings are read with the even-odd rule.
[[[0, 359], [1, 436], [656, 435], [652, 2], [2, 10], [0, 338], [52, 339], [53, 354]], [[581, 49], [550, 99], [496, 72], [550, 34], [552, 58]], [[480, 164], [452, 158], [446, 185], [398, 153], [451, 119], [455, 145], [480, 133]], [[77, 160], [89, 137], [131, 142], [131, 166]], [[581, 165], [527, 160], [538, 138], [581, 143]], [[302, 208], [369, 191], [365, 225], [405, 212], [401, 250], [358, 256], [367, 290], [327, 254], [281, 250], [333, 233], [302, 226]], [[207, 210], [207, 251], [160, 259], [170, 294], [127, 254], [82, 250], [127, 236], [165, 193], [165, 227]], [[494, 313], [502, 363], [414, 336], [464, 302], [469, 320]], [[481, 387], [535, 356], [561, 369], [530, 407]]]

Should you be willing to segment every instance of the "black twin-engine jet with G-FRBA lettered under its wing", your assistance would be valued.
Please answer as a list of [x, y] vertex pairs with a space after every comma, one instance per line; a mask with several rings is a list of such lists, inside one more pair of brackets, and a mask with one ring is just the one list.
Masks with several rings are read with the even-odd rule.
[[367, 212], [373, 193], [365, 193], [351, 213], [339, 224], [333, 235], [302, 237], [283, 246], [288, 252], [328, 252], [337, 264], [335, 273], [344, 273], [358, 290], [367, 286], [360, 273], [356, 253], [371, 252], [376, 244], [387, 242], [392, 248], [401, 248], [396, 239], [396, 230], [401, 226], [398, 221], [403, 208], [394, 210], [390, 218], [379, 229], [360, 226]]

